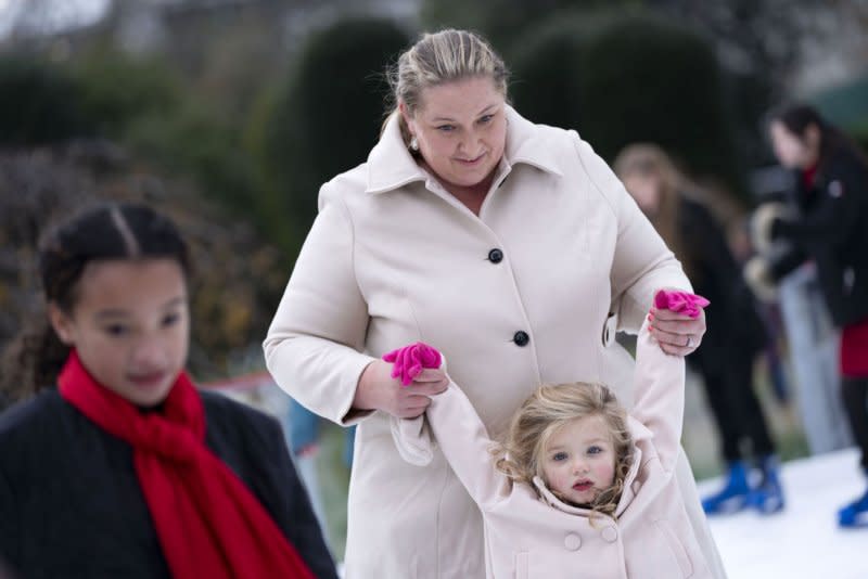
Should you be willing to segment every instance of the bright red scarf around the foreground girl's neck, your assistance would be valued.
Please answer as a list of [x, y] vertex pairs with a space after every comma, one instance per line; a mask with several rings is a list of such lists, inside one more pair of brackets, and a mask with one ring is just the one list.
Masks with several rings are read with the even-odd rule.
[[142, 413], [94, 381], [73, 350], [61, 396], [129, 442], [171, 575], [179, 579], [314, 575], [268, 512], [205, 446], [205, 409], [184, 372], [161, 412]]

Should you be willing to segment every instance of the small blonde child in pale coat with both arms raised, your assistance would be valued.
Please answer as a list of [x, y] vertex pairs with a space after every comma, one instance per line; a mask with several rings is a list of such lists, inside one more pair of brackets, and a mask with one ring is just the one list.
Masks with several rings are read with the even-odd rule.
[[[385, 359], [407, 374], [407, 357]], [[449, 381], [432, 397], [426, 424], [405, 419], [395, 429], [416, 462], [438, 445], [480, 506], [487, 577], [712, 577], [673, 477], [684, 358], [664, 353], [646, 321], [636, 360], [629, 414], [603, 385], [544, 385], [494, 442]], [[420, 383], [445, 369], [421, 372]]]

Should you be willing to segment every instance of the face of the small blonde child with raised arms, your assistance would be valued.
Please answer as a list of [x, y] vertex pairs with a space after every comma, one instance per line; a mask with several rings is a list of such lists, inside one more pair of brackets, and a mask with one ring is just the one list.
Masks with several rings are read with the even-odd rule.
[[566, 423], [549, 439], [541, 456], [546, 484], [561, 499], [590, 503], [615, 479], [615, 449], [602, 416]]

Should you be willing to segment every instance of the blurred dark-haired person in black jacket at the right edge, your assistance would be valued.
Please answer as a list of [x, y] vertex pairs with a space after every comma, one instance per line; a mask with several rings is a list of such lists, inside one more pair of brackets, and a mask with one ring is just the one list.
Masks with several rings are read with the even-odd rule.
[[[775, 204], [754, 214], [758, 247], [777, 240], [790, 249], [774, 261], [751, 260], [745, 275], [774, 285], [812, 260], [832, 321], [841, 330], [841, 393], [868, 477], [868, 160], [840, 130], [807, 105], [769, 116], [775, 156], [794, 172], [792, 208]], [[838, 513], [843, 527], [868, 526], [868, 490]]]

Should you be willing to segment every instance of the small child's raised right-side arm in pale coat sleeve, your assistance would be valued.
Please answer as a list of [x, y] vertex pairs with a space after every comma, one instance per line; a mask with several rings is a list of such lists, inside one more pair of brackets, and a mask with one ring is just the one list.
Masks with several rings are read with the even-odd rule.
[[[702, 304], [707, 304], [703, 298], [700, 299], [694, 300], [694, 305], [699, 304], [701, 307]], [[658, 300], [659, 308], [661, 303], [665, 304], [665, 299]], [[648, 320], [642, 323], [636, 342], [635, 376], [630, 415], [654, 435], [653, 443], [660, 461], [666, 471], [672, 471], [680, 449], [684, 422], [685, 359], [661, 350], [658, 340], [648, 330]]]

